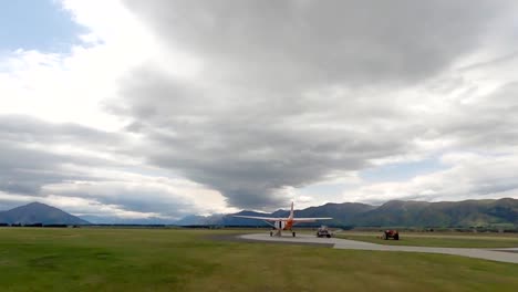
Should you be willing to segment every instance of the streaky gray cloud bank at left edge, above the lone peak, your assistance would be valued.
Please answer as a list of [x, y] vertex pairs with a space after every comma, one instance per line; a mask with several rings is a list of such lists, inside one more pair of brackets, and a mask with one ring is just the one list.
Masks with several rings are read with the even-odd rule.
[[0, 191], [41, 196], [41, 187], [64, 180], [99, 179], [65, 165], [113, 166], [99, 157], [52, 150], [59, 145], [112, 149], [122, 143], [108, 134], [75, 124], [51, 124], [30, 116], [0, 115]]

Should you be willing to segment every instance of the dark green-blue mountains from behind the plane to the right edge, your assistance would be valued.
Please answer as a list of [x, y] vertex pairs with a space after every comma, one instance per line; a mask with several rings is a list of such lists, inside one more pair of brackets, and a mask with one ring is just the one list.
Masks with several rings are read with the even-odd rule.
[[[234, 215], [287, 217], [289, 211], [272, 213], [240, 211]], [[234, 215], [217, 217], [189, 216], [176, 225], [267, 226], [260, 220], [235, 218]], [[401, 226], [401, 227], [518, 227], [518, 199], [488, 199], [465, 201], [402, 201], [392, 200], [382, 206], [356, 202], [325, 204], [296, 210], [296, 217], [332, 217], [330, 226]], [[218, 219], [219, 218], [219, 219]], [[322, 222], [315, 222], [318, 226]]]

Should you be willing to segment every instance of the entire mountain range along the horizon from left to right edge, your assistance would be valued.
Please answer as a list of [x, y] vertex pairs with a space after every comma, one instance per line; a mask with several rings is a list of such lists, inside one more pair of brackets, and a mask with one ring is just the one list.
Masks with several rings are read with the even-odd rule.
[[[0, 223], [8, 225], [177, 225], [177, 226], [267, 226], [260, 220], [236, 218], [234, 215], [288, 217], [288, 210], [271, 213], [244, 210], [230, 215], [187, 216], [172, 221], [162, 218], [114, 219], [112, 217], [79, 218], [58, 208], [31, 202], [0, 211]], [[518, 199], [485, 199], [464, 201], [402, 201], [381, 206], [359, 202], [325, 204], [296, 210], [296, 217], [332, 217], [325, 225], [336, 227], [509, 227], [518, 228]], [[86, 220], [85, 220], [86, 219]], [[90, 221], [90, 222], [89, 222]], [[322, 222], [312, 223], [319, 226]]]

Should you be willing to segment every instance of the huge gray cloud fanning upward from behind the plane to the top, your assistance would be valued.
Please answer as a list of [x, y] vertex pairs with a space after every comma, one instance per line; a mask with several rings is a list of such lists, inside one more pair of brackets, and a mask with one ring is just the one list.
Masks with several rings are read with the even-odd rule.
[[[143, 155], [152, 164], [245, 208], [286, 204], [284, 187], [412, 154], [415, 138], [445, 137], [470, 125], [468, 114], [458, 121], [416, 116], [406, 102], [421, 97], [397, 94], [475, 52], [507, 13], [507, 4], [493, 1], [128, 7], [168, 48], [198, 58], [203, 70], [186, 81], [144, 64], [121, 84], [124, 98], [111, 111], [133, 118], [127, 129], [148, 139]], [[450, 121], [456, 129], [448, 128]], [[429, 132], [436, 136], [424, 135]]]

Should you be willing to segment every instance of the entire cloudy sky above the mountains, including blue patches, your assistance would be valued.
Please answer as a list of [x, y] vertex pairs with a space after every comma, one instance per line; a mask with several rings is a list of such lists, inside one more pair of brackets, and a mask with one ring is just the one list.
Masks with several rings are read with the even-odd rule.
[[0, 209], [503, 197], [516, 1], [0, 3]]

